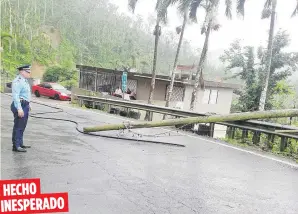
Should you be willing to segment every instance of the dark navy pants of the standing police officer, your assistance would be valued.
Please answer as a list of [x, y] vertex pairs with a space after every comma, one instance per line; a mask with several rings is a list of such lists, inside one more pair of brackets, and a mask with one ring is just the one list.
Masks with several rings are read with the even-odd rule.
[[24, 117], [18, 116], [18, 110], [12, 103], [10, 108], [14, 116], [14, 126], [12, 131], [12, 144], [15, 146], [15, 148], [23, 146], [23, 134], [25, 131], [25, 128], [27, 126], [28, 116], [29, 116], [29, 103], [26, 101], [21, 102], [23, 111], [24, 111]]

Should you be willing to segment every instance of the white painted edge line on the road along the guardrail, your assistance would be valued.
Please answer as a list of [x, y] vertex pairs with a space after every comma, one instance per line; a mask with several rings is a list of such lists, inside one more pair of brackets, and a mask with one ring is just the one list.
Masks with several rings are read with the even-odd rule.
[[[42, 103], [42, 102], [40, 102], [40, 103]], [[49, 103], [44, 103], [44, 104], [49, 104]], [[52, 104], [52, 103], [50, 103], [50, 104]], [[121, 118], [121, 117], [113, 116], [113, 115], [110, 115], [110, 114], [95, 112], [94, 110], [89, 110], [89, 109], [79, 109], [79, 108], [76, 108], [76, 107], [63, 106], [63, 105], [59, 105], [59, 104], [55, 104], [54, 106], [57, 106], [57, 107], [60, 107], [60, 108], [63, 108], [63, 107], [71, 108], [71, 109], [74, 109], [74, 110], [81, 110], [81, 111], [83, 110], [83, 111], [86, 111], [86, 112], [89, 112], [89, 113], [104, 115], [104, 116], [114, 118], [114, 119], [118, 119], [118, 120], [122, 120], [122, 121], [135, 122], [135, 121], [132, 121], [132, 120], [128, 120], [128, 119], [124, 119], [124, 118]], [[160, 127], [156, 127], [156, 128], [160, 128]], [[166, 130], [166, 131], [172, 131], [172, 130], [166, 129], [166, 128], [160, 128], [160, 129]], [[272, 160], [272, 161], [276, 161], [276, 162], [279, 162], [279, 163], [282, 163], [282, 164], [289, 165], [289, 166], [294, 167], [294, 168], [298, 168], [298, 164], [290, 163], [288, 161], [280, 160], [280, 159], [277, 159], [277, 158], [274, 158], [274, 157], [270, 157], [268, 155], [259, 154], [257, 152], [253, 152], [253, 151], [241, 149], [241, 148], [238, 148], [238, 147], [235, 147], [235, 146], [232, 146], [232, 145], [227, 145], [227, 144], [224, 144], [224, 143], [216, 142], [215, 140], [213, 141], [213, 140], [208, 140], [208, 139], [205, 139], [205, 138], [202, 138], [202, 137], [199, 137], [199, 136], [193, 136], [193, 135], [190, 135], [190, 134], [187, 134], [187, 133], [181, 133], [180, 132], [180, 134], [183, 135], [183, 136], [190, 137], [190, 138], [200, 139], [200, 140], [203, 140], [203, 141], [206, 141], [206, 142], [209, 142], [209, 143], [217, 144], [217, 145], [224, 146], [224, 147], [227, 147], [227, 148], [235, 149], [237, 151], [241, 151], [241, 152], [249, 153], [251, 155], [266, 158], [266, 159], [269, 159], [269, 160]]]

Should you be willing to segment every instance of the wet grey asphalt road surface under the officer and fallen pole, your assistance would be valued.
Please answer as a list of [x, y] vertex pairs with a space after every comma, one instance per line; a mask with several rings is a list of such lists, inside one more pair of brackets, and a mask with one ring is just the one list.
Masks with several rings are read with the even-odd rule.
[[[10, 100], [1, 94], [2, 106], [9, 108]], [[32, 113], [53, 111], [32, 107]], [[75, 119], [80, 127], [121, 122], [65, 111], [73, 116], [52, 116]], [[38, 177], [42, 192], [68, 192], [70, 213], [298, 213], [295, 166], [177, 133], [156, 140], [186, 147], [92, 137], [73, 124], [35, 118], [24, 136], [32, 148], [13, 153], [12, 121], [10, 110], [1, 108], [1, 178]]]

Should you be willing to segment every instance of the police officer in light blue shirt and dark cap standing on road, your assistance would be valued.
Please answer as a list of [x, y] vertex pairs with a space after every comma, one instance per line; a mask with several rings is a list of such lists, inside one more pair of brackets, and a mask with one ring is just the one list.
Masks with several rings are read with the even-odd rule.
[[29, 110], [31, 89], [27, 81], [30, 77], [30, 65], [21, 66], [18, 68], [19, 74], [12, 82], [12, 97], [11, 111], [14, 116], [14, 126], [12, 132], [12, 150], [15, 152], [26, 152], [26, 148], [23, 144], [23, 134], [27, 125]]

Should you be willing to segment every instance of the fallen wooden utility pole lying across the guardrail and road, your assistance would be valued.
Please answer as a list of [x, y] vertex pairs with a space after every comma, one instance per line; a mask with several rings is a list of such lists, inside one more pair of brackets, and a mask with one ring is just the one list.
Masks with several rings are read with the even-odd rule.
[[279, 118], [279, 117], [297, 117], [298, 109], [285, 109], [285, 110], [272, 110], [272, 111], [255, 111], [255, 112], [244, 112], [234, 113], [225, 115], [211, 115], [211, 116], [200, 116], [200, 117], [187, 117], [178, 119], [169, 119], [161, 121], [150, 121], [150, 122], [138, 122], [129, 124], [108, 124], [94, 127], [84, 127], [84, 132], [98, 132], [98, 131], [110, 131], [110, 130], [121, 130], [121, 129], [137, 129], [137, 128], [151, 128], [161, 126], [174, 126], [174, 125], [185, 125], [195, 123], [218, 123], [228, 121], [241, 121], [251, 119], [266, 119], [266, 118]]

